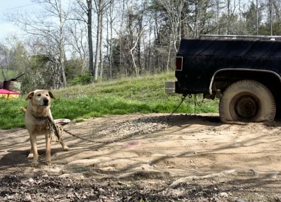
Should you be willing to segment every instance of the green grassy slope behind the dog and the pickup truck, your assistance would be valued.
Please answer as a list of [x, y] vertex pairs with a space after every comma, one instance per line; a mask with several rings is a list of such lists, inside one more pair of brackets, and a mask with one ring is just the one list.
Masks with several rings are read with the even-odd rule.
[[[181, 101], [181, 95], [167, 95], [166, 80], [175, 80], [173, 73], [143, 78], [125, 78], [84, 86], [72, 86], [53, 91], [57, 100], [52, 101], [55, 119], [90, 118], [107, 114], [170, 113]], [[24, 127], [20, 106], [26, 107], [25, 95], [19, 100], [0, 100], [0, 128]], [[198, 96], [202, 100], [202, 96]], [[194, 113], [194, 100], [188, 99], [178, 113]], [[204, 100], [196, 113], [218, 112], [218, 100]]]

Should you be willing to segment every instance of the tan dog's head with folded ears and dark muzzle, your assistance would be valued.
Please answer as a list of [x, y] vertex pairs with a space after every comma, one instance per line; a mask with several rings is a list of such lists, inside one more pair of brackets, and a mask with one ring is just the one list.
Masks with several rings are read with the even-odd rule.
[[25, 98], [26, 101], [31, 100], [31, 106], [34, 108], [46, 108], [49, 107], [51, 98], [56, 100], [53, 93], [47, 90], [35, 90], [28, 93]]

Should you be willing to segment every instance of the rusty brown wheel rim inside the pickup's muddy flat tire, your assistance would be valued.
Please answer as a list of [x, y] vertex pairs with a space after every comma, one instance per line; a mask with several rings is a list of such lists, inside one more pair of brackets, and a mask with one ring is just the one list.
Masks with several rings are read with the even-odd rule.
[[260, 100], [252, 93], [236, 94], [230, 103], [230, 111], [234, 120], [254, 121], [260, 111]]

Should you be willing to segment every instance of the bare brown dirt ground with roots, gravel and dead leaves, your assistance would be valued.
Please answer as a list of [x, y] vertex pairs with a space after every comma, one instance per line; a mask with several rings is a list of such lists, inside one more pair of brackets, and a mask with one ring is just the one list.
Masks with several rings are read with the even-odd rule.
[[27, 158], [27, 130], [0, 130], [0, 202], [281, 202], [281, 122], [165, 117], [114, 115], [64, 125], [96, 142], [63, 133], [71, 151], [53, 142], [46, 166], [39, 137], [36, 168]]

